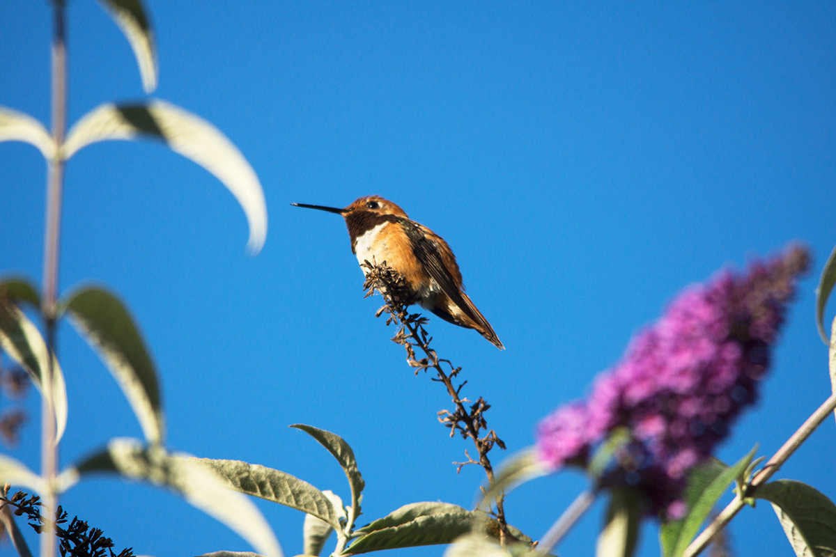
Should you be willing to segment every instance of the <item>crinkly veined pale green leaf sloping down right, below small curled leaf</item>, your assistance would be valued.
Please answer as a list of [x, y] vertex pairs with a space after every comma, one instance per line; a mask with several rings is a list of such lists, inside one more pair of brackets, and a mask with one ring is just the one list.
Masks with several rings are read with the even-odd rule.
[[340, 528], [339, 514], [329, 498], [313, 485], [289, 473], [284, 473], [260, 464], [220, 458], [195, 458], [225, 479], [233, 489], [242, 494], [252, 495], [283, 504], [292, 509], [324, 520], [336, 529]]

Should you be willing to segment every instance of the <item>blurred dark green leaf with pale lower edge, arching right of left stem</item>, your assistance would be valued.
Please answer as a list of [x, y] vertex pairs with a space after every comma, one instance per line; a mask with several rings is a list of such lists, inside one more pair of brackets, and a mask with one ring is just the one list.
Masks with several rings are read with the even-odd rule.
[[122, 387], [145, 438], [161, 443], [165, 425], [156, 369], [125, 306], [110, 292], [91, 286], [68, 296], [61, 309], [69, 312], [73, 326]]

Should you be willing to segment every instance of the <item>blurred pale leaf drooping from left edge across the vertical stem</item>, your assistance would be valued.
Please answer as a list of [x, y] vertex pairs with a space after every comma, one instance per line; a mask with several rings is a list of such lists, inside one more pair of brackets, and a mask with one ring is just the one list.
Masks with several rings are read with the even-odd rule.
[[43, 384], [47, 369], [47, 345], [33, 322], [18, 306], [0, 296], [0, 348], [26, 370], [44, 397], [51, 397], [55, 412], [55, 443], [67, 427], [67, 388], [58, 360], [52, 355], [52, 386]]

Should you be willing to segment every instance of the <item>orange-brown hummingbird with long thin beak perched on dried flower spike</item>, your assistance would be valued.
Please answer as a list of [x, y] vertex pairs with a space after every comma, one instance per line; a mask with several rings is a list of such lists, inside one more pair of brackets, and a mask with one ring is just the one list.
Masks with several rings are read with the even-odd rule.
[[[339, 209], [292, 203], [295, 207], [325, 210], [343, 215], [349, 229], [351, 253], [364, 261], [386, 261], [403, 276], [410, 303], [418, 303], [446, 322], [475, 329], [503, 350], [497, 333], [465, 294], [456, 256], [447, 242], [424, 225], [410, 220], [405, 211], [380, 195], [360, 197]], [[363, 273], [368, 270], [361, 267]]]

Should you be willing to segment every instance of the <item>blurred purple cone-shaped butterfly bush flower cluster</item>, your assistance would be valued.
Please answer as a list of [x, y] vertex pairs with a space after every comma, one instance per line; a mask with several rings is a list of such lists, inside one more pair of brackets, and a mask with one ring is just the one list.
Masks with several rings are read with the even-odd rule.
[[648, 514], [678, 518], [686, 473], [726, 437], [757, 400], [772, 344], [808, 252], [792, 247], [746, 272], [722, 271], [691, 286], [640, 332], [589, 397], [538, 425], [538, 457], [557, 469], [584, 464], [615, 431], [627, 432], [603, 486], [644, 494]]

